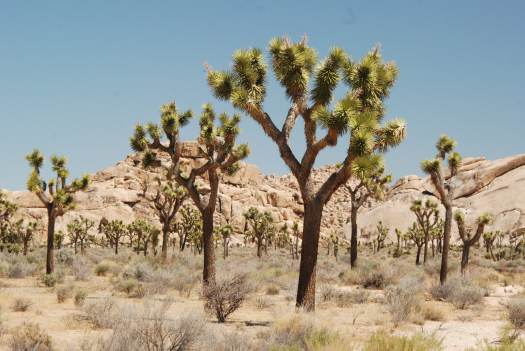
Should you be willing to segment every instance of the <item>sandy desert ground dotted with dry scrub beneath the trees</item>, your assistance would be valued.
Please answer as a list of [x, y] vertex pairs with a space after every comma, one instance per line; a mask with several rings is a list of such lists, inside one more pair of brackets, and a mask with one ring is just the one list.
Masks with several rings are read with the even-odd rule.
[[57, 350], [133, 349], [136, 335], [126, 334], [133, 329], [129, 323], [155, 329], [152, 321], [164, 323], [166, 335], [172, 323], [181, 335], [187, 328], [191, 345], [176, 348], [181, 350], [387, 350], [373, 348], [371, 337], [396, 336], [398, 342], [421, 345], [391, 346], [395, 350], [440, 349], [433, 342], [445, 350], [489, 350], [501, 344], [510, 327], [507, 306], [523, 294], [521, 261], [492, 262], [476, 252], [460, 278], [455, 252], [449, 285], [458, 290], [454, 284], [461, 283], [454, 282], [463, 282], [463, 294], [437, 297], [438, 260], [416, 267], [409, 252], [394, 259], [389, 247], [363, 251], [351, 270], [347, 254], [336, 260], [322, 250], [317, 309], [307, 314], [295, 309], [298, 260], [289, 252], [268, 248], [257, 258], [254, 247], [231, 248], [226, 259], [218, 258], [219, 280], [245, 275], [247, 294], [225, 323], [205, 309], [202, 256], [191, 249], [170, 252], [169, 263], [163, 264], [158, 256], [128, 249], [114, 255], [89, 248], [75, 255], [64, 248], [57, 252], [52, 282], [42, 278], [44, 251], [4, 253], [1, 349], [14, 350], [13, 340], [27, 323], [39, 325]]

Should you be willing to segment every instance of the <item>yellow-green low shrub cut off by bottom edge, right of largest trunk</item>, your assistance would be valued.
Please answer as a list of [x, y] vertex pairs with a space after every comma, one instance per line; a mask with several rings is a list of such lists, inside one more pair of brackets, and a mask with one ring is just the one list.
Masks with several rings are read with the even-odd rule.
[[441, 351], [441, 341], [431, 335], [415, 334], [394, 336], [385, 333], [374, 334], [365, 344], [363, 351]]

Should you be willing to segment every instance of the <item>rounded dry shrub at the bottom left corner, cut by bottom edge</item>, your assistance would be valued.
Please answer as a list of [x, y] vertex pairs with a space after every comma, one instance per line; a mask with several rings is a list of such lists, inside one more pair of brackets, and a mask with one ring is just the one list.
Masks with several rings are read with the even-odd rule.
[[14, 330], [9, 348], [11, 351], [54, 350], [51, 337], [33, 323], [24, 323]]

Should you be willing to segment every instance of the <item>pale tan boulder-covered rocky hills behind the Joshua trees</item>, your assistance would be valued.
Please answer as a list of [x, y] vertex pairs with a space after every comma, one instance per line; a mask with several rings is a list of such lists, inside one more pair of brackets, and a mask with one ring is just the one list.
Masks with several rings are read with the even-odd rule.
[[[184, 144], [183, 157], [185, 164], [202, 162], [194, 142]], [[314, 180], [322, 182], [333, 169], [333, 166], [316, 169]], [[97, 222], [103, 217], [122, 219], [126, 223], [136, 218], [154, 219], [154, 211], [145, 198], [156, 190], [153, 181], [156, 175], [143, 170], [136, 155], [91, 175], [89, 189], [76, 195], [76, 209], [58, 220], [58, 228], [64, 229], [65, 224], [79, 214]], [[525, 197], [522, 196], [525, 193], [525, 155], [495, 161], [482, 157], [465, 159], [457, 186], [455, 204], [467, 210], [467, 221], [490, 212], [495, 216], [492, 227], [506, 231], [525, 229]], [[35, 195], [12, 191], [8, 196], [19, 205], [20, 216], [45, 218], [45, 210]], [[360, 210], [359, 227], [364, 233], [370, 233], [381, 220], [392, 232], [393, 228], [406, 229], [415, 220], [409, 210], [412, 200], [434, 196], [435, 190], [428, 178], [402, 177], [384, 201], [369, 202]], [[344, 188], [334, 194], [323, 216], [324, 235], [331, 232], [348, 234], [345, 224], [348, 200]], [[243, 213], [251, 206], [270, 211], [278, 223], [300, 221], [303, 213], [293, 176], [263, 175], [255, 165], [243, 164], [237, 174], [222, 179], [216, 220], [229, 222], [241, 232], [245, 226]]]

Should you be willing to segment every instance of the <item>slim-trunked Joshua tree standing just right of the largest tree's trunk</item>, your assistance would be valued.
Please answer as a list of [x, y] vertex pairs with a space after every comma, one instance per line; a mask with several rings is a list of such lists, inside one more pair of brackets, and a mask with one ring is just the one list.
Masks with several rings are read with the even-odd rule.
[[351, 236], [350, 236], [350, 266], [355, 267], [357, 261], [357, 211], [369, 198], [381, 199], [387, 190], [392, 176], [385, 175], [381, 155], [359, 157], [354, 161], [353, 177], [357, 183], [346, 184], [350, 193]]

